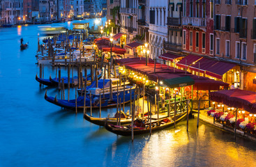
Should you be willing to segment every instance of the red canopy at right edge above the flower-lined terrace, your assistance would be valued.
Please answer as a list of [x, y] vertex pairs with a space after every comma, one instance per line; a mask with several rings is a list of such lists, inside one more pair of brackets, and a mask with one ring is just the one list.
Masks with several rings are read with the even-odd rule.
[[227, 106], [245, 109], [250, 113], [256, 113], [256, 93], [248, 90], [231, 89], [210, 93], [210, 99]]

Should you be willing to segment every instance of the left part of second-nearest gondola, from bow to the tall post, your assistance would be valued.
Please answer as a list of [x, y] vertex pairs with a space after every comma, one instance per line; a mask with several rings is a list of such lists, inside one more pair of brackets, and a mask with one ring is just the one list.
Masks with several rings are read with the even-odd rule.
[[[95, 118], [87, 115], [86, 113], [84, 114], [84, 119], [99, 126], [105, 126], [106, 123], [110, 123], [112, 125], [116, 124], [116, 118]], [[121, 118], [120, 122], [121, 122], [121, 125], [127, 125], [127, 124], [130, 124], [131, 121], [132, 121], [131, 118]]]

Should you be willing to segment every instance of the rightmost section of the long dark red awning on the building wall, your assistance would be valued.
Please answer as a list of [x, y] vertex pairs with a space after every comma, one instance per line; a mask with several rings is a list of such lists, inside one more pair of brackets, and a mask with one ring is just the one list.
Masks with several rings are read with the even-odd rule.
[[212, 77], [216, 77], [218, 79], [222, 79], [223, 74], [232, 69], [234, 66], [236, 66], [236, 64], [218, 61], [211, 67], [208, 67], [208, 69], [206, 70], [206, 74], [211, 75]]

